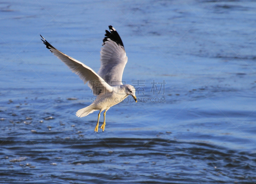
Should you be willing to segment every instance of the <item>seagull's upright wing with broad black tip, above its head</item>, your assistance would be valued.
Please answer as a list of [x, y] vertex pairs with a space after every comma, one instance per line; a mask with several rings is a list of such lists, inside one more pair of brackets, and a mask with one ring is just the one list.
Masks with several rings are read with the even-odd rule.
[[119, 34], [111, 25], [108, 27], [110, 32], [106, 30], [106, 37], [103, 39], [98, 74], [110, 86], [122, 85], [122, 76], [128, 58]]

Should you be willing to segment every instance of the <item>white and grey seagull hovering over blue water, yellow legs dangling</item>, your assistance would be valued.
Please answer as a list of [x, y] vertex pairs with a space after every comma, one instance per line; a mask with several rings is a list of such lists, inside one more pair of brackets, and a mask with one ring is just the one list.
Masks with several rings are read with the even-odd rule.
[[116, 29], [111, 25], [108, 28], [110, 32], [105, 30], [106, 34], [100, 51], [100, 70], [98, 73], [84, 63], [60, 52], [40, 35], [46, 48], [50, 49], [72, 72], [77, 74], [84, 81], [84, 84], [88, 82], [93, 95], [96, 96], [91, 105], [76, 112], [77, 117], [85, 117], [94, 111], [100, 110], [94, 132], [98, 132], [100, 113], [103, 110], [105, 110], [104, 121], [100, 129], [104, 132], [106, 125], [105, 116], [110, 107], [122, 102], [129, 95], [137, 102], [135, 88], [130, 84], [122, 83], [124, 67], [128, 60], [124, 44]]

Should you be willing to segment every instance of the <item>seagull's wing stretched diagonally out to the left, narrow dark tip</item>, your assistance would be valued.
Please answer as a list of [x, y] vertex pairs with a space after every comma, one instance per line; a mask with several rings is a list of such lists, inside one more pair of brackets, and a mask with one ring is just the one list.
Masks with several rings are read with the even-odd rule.
[[[41, 36], [41, 35], [40, 35]], [[41, 36], [42, 37], [42, 36]], [[46, 48], [57, 56], [62, 62], [64, 62], [72, 72], [77, 74], [80, 79], [84, 81], [84, 84], [88, 82], [88, 86], [93, 90], [93, 95], [99, 95], [100, 93], [112, 92], [112, 87], [108, 85], [92, 68], [87, 67], [85, 64], [81, 63], [74, 58], [60, 52], [58, 49], [54, 48], [49, 42], [47, 42], [44, 37], [41, 39], [46, 45]]]

